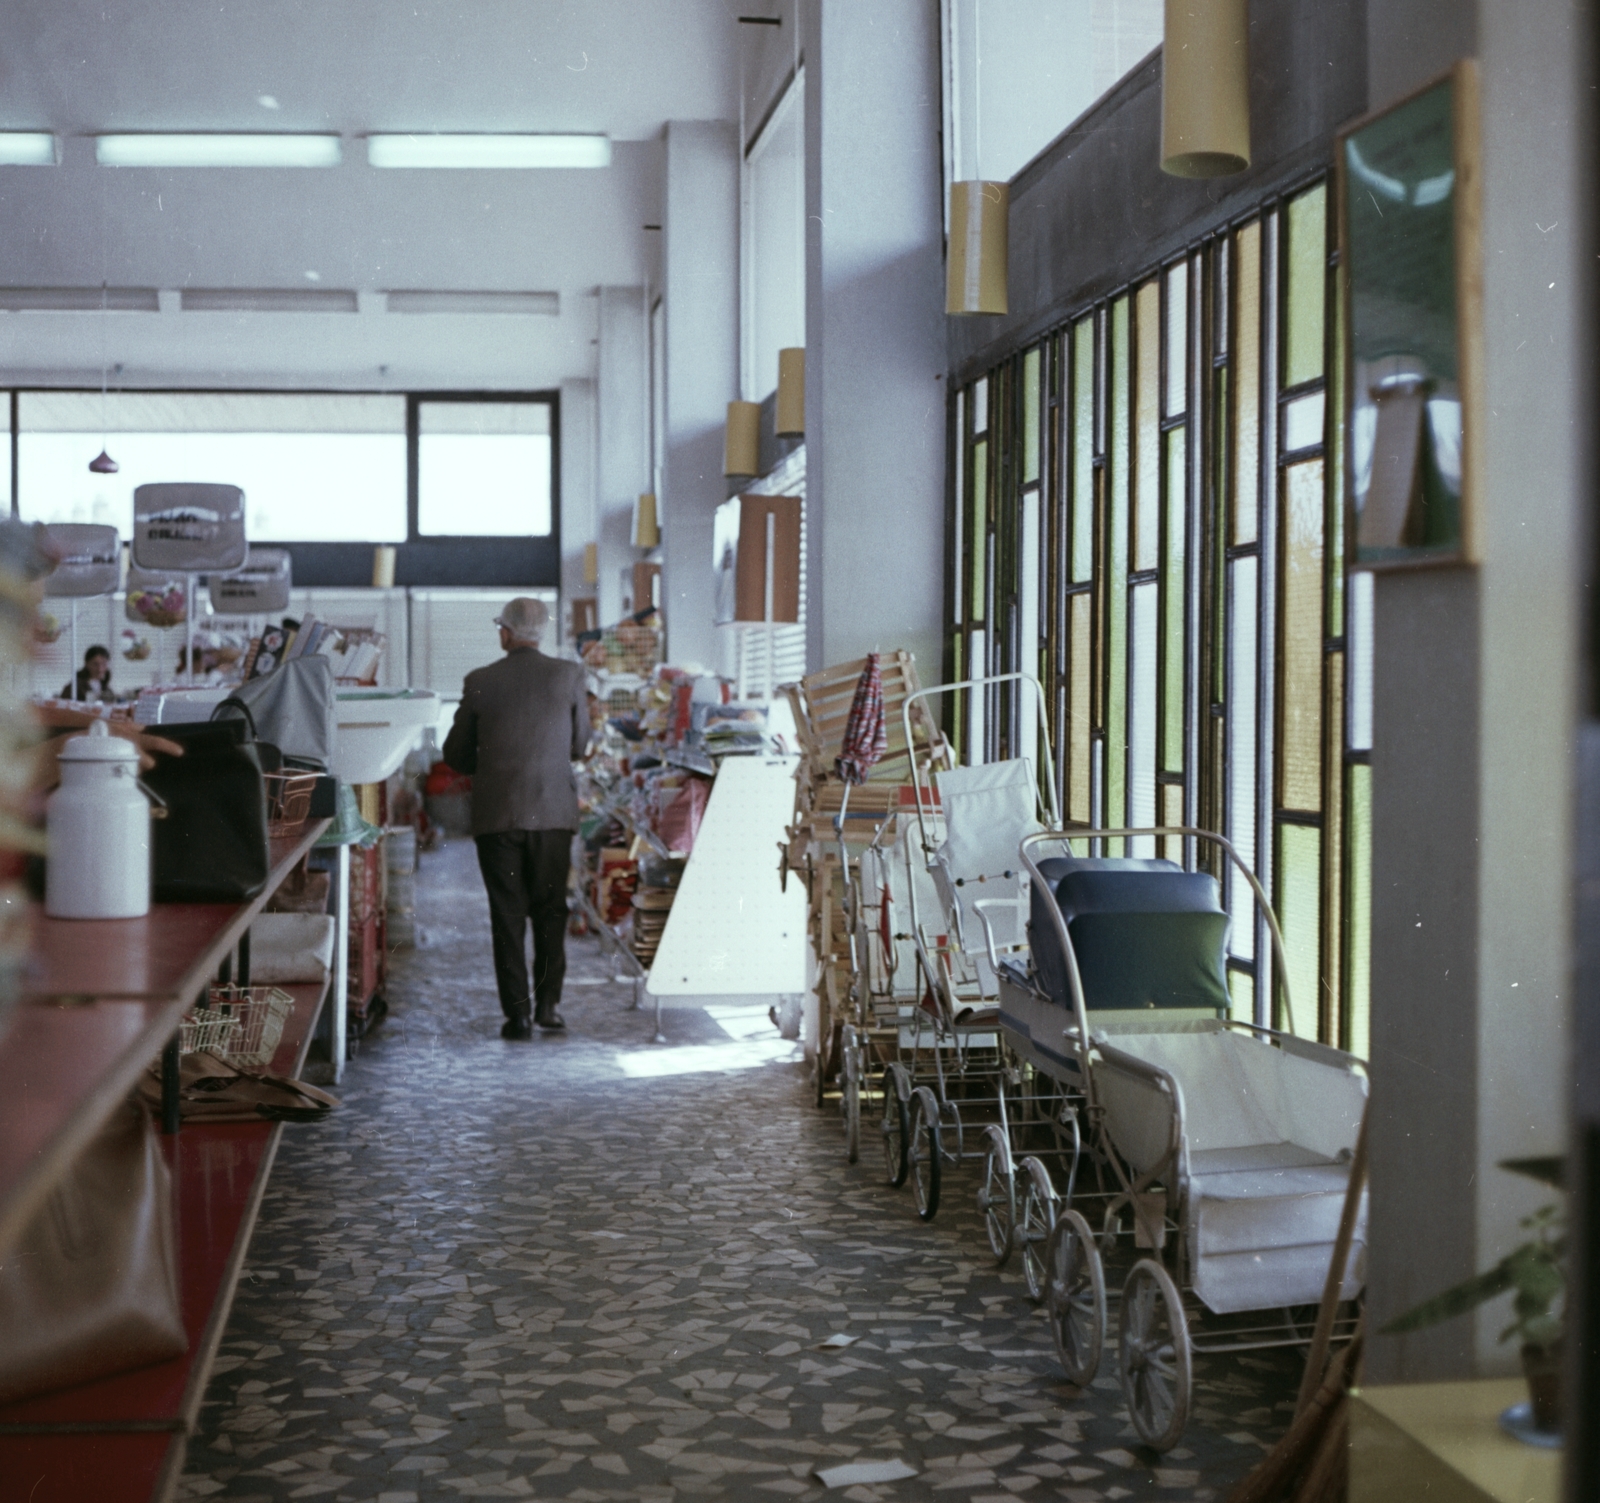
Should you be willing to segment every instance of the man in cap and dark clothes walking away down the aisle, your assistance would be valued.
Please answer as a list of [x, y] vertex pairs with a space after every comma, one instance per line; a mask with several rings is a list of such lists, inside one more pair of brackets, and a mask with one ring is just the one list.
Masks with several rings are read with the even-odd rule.
[[[589, 706], [582, 667], [539, 651], [549, 616], [542, 600], [507, 602], [494, 618], [506, 656], [467, 674], [445, 738], [445, 760], [472, 776], [472, 837], [490, 896], [502, 1039], [530, 1039], [534, 1023], [566, 1026], [555, 1007], [566, 975], [566, 872], [578, 829], [571, 764], [589, 746]], [[530, 919], [531, 1021], [523, 957]]]

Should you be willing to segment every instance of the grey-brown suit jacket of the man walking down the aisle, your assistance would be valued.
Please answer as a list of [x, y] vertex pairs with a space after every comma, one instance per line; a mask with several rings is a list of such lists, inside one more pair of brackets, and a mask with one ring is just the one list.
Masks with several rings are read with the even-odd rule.
[[586, 675], [578, 663], [514, 647], [467, 674], [445, 760], [472, 776], [472, 834], [578, 829], [571, 764], [589, 747]]

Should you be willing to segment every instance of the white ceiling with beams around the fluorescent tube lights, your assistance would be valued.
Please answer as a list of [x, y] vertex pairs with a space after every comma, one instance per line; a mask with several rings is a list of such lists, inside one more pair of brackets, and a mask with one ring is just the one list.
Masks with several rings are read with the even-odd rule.
[[[10, 0], [0, 287], [155, 288], [160, 312], [0, 314], [0, 381], [533, 389], [594, 370], [600, 285], [651, 275], [667, 120], [738, 115], [731, 0]], [[338, 131], [326, 170], [101, 168], [94, 131]], [[602, 131], [602, 170], [379, 171], [368, 131]], [[360, 312], [184, 312], [323, 288]], [[554, 291], [560, 314], [390, 314], [395, 288]]]

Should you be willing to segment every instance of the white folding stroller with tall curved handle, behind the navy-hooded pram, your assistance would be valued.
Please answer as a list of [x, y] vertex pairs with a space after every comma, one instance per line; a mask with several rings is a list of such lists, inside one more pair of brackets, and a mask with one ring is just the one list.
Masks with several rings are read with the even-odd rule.
[[[1026, 672], [922, 690], [906, 701], [907, 723], [917, 701], [987, 693], [1002, 683], [1016, 683], [1032, 696], [1034, 727], [1046, 723], [1043, 690]], [[1010, 1252], [1014, 1200], [1006, 1085], [1016, 1071], [998, 1028], [997, 973], [1002, 956], [1016, 956], [1027, 944], [1029, 888], [1018, 844], [1030, 832], [1061, 826], [1048, 735], [1040, 736], [1040, 747], [1043, 776], [1027, 757], [954, 767], [934, 775], [938, 799], [923, 770], [912, 768], [912, 812], [902, 815], [899, 845], [915, 975], [910, 996], [896, 999], [896, 1053], [882, 1074], [890, 1183], [909, 1178], [917, 1213], [928, 1221], [939, 1208], [946, 1167], [984, 1159], [979, 1199], [986, 1204], [1002, 1165], [1005, 1242], [995, 1245], [1002, 1260]], [[981, 1143], [968, 1148], [970, 1128], [979, 1122]]]

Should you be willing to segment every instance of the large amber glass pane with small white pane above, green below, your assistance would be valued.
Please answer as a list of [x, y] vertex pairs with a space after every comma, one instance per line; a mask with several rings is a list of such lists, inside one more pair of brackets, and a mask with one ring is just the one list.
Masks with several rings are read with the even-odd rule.
[[1283, 474], [1282, 804], [1322, 808], [1322, 523], [1323, 463]]

